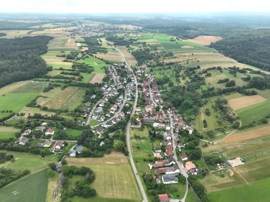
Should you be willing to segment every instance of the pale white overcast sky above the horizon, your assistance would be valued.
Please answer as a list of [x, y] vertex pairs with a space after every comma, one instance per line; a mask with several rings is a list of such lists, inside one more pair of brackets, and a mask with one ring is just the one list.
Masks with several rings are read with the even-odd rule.
[[31, 13], [189, 13], [270, 12], [267, 0], [6, 0], [0, 12]]

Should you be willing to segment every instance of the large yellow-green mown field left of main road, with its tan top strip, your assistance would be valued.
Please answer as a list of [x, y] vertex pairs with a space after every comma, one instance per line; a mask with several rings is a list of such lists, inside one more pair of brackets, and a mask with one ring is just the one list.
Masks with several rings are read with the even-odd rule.
[[[141, 201], [135, 177], [127, 161], [127, 157], [122, 155], [121, 158], [126, 159], [122, 160], [126, 162], [121, 164], [118, 161], [113, 161], [111, 158], [109, 159], [109, 162], [103, 162], [103, 158], [87, 158], [86, 162], [74, 162], [72, 158], [67, 158], [66, 160], [68, 165], [78, 167], [87, 166], [95, 172], [96, 179], [92, 185], [99, 196], [104, 198], [120, 198]], [[92, 159], [95, 163], [89, 163]], [[117, 157], [117, 159], [119, 159], [119, 157]], [[89, 201], [92, 201], [91, 198]]]

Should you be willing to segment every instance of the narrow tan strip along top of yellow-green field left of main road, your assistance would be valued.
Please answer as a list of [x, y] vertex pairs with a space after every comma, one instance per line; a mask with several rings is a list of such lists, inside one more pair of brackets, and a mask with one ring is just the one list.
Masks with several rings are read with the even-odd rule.
[[67, 162], [75, 163], [91, 163], [91, 164], [128, 164], [128, 159], [125, 155], [118, 152], [112, 152], [102, 158], [66, 158]]

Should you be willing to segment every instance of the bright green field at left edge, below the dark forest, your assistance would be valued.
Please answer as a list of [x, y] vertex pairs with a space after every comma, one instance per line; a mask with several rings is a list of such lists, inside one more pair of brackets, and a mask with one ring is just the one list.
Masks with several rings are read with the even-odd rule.
[[12, 110], [18, 113], [40, 93], [7, 93], [0, 96], [0, 110]]

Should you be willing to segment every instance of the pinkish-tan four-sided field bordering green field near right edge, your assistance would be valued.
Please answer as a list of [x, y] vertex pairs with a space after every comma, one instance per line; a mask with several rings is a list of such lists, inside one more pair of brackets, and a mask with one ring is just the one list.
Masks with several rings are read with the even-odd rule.
[[261, 97], [260, 95], [250, 95], [244, 97], [238, 97], [235, 99], [228, 100], [228, 104], [234, 110], [239, 110], [257, 103], [264, 102], [266, 99]]

